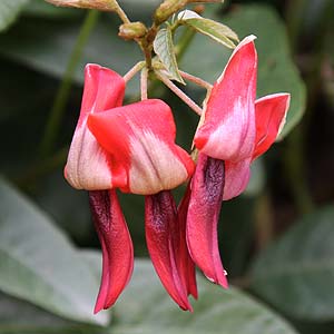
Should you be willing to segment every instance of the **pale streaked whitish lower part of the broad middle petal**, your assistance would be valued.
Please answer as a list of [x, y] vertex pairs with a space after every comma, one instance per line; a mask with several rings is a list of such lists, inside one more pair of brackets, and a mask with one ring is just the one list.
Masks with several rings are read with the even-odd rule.
[[130, 140], [130, 190], [149, 195], [173, 189], [188, 177], [185, 166], [169, 147], [150, 131]]

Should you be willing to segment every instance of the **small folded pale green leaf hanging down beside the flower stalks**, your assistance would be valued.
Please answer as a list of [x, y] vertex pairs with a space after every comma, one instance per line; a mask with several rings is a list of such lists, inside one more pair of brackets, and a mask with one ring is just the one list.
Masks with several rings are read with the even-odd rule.
[[166, 70], [168, 71], [170, 79], [185, 85], [185, 81], [183, 80], [178, 71], [173, 36], [169, 26], [166, 29], [161, 29], [158, 31], [154, 41], [154, 49], [158, 55], [160, 61], [165, 66]]

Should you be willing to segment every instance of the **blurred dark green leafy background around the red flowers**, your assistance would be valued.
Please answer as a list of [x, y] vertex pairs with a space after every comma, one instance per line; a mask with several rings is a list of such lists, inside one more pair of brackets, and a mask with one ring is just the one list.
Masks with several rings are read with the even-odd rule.
[[[119, 3], [150, 22], [160, 1]], [[204, 16], [240, 39], [257, 36], [258, 97], [292, 94], [282, 140], [254, 164], [246, 193], [223, 204], [219, 244], [233, 287], [198, 273], [195, 311], [179, 311], [146, 259], [144, 198], [120, 194], [140, 259], [116, 306], [94, 316], [99, 243], [87, 194], [70, 188], [62, 168], [85, 65], [124, 75], [141, 56], [117, 37], [112, 13], [0, 1], [0, 334], [334, 332], [334, 2], [225, 1]], [[229, 55], [195, 36], [179, 67], [214, 82]], [[136, 77], [128, 101], [138, 89]], [[200, 104], [203, 90], [185, 90]], [[189, 149], [197, 116], [161, 85], [150, 94], [173, 107], [177, 141]]]

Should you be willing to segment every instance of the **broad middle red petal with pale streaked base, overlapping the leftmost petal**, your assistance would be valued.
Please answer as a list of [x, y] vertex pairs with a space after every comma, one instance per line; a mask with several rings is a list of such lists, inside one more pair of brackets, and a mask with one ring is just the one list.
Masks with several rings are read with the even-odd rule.
[[[114, 186], [150, 195], [184, 183], [194, 170], [190, 156], [175, 145], [175, 124], [168, 105], [144, 100], [90, 115], [88, 127], [112, 156]], [[116, 166], [116, 167], [115, 167]]]

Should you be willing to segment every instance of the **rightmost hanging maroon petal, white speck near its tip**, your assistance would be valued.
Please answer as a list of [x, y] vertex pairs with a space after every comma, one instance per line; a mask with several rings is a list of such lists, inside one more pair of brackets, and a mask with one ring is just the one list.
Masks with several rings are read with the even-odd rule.
[[227, 287], [217, 236], [224, 178], [224, 161], [199, 154], [191, 180], [187, 243], [191, 258], [208, 279]]

